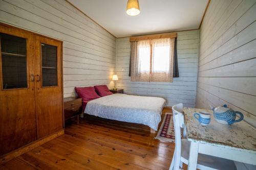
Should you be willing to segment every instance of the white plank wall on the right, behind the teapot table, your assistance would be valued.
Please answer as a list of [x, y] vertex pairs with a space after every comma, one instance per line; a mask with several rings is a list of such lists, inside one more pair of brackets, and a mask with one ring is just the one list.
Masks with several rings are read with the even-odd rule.
[[228, 104], [256, 126], [256, 1], [211, 1], [200, 30], [196, 106]]

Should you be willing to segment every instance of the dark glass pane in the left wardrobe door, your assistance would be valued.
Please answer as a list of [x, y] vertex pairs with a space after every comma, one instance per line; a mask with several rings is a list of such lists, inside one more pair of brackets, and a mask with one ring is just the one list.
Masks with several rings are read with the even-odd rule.
[[3, 89], [27, 88], [26, 39], [0, 33]]

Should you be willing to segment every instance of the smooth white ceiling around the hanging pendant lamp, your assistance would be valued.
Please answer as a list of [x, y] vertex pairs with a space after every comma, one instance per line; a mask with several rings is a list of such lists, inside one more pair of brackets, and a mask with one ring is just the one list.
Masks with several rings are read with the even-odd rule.
[[198, 29], [208, 0], [139, 0], [140, 14], [126, 14], [127, 0], [68, 0], [116, 37]]

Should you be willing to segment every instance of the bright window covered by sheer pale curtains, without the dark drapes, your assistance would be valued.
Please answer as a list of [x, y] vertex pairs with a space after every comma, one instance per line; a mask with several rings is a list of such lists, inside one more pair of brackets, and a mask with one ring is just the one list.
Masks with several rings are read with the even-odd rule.
[[132, 41], [132, 81], [172, 82], [175, 38]]

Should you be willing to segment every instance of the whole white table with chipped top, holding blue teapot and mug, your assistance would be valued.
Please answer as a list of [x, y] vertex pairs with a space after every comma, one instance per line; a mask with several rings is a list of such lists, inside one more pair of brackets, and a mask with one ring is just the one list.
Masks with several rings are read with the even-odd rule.
[[[201, 126], [195, 112], [211, 113], [210, 124]], [[256, 165], [256, 129], [244, 121], [232, 125], [216, 122], [212, 110], [184, 108], [187, 139], [191, 142], [188, 170], [197, 167], [198, 153]]]

